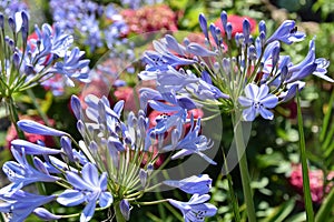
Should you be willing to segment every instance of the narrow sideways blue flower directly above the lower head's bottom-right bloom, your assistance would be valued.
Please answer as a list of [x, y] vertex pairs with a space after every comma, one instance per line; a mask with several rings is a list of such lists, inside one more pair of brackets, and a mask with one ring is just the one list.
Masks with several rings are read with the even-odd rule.
[[193, 175], [190, 178], [186, 178], [183, 180], [166, 180], [163, 183], [169, 186], [178, 188], [181, 191], [195, 194], [198, 193], [199, 195], [208, 193], [212, 188], [213, 180], [207, 175]]

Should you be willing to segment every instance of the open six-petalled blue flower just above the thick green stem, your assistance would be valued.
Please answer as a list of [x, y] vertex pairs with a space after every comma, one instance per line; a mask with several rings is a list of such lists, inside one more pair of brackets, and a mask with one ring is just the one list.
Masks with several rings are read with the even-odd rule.
[[278, 98], [269, 93], [269, 88], [266, 84], [262, 84], [259, 88], [249, 83], [245, 88], [245, 95], [238, 98], [239, 103], [246, 108], [243, 111], [245, 121], [253, 121], [259, 113], [264, 119], [272, 120], [274, 114], [267, 110], [275, 108], [278, 102]]

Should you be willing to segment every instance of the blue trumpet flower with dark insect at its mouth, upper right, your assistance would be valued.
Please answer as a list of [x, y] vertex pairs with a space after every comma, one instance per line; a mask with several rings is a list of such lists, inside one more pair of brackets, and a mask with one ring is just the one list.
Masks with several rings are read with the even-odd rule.
[[278, 29], [267, 39], [266, 43], [271, 43], [275, 40], [283, 41], [287, 44], [304, 40], [305, 33], [297, 31], [295, 21], [285, 20]]

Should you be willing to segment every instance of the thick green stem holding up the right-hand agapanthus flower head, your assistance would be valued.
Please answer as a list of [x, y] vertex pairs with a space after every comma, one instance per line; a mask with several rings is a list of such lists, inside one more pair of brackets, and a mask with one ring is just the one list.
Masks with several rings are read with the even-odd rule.
[[236, 111], [235, 119], [233, 121], [234, 137], [235, 137], [235, 143], [237, 149], [237, 155], [239, 160], [239, 170], [242, 175], [242, 184], [243, 184], [244, 199], [246, 203], [248, 221], [256, 222], [255, 208], [254, 208], [253, 194], [250, 188], [250, 179], [249, 179], [248, 165], [247, 165], [247, 157], [245, 152], [246, 147], [244, 143], [243, 127], [242, 127], [240, 119], [242, 119], [240, 113]]

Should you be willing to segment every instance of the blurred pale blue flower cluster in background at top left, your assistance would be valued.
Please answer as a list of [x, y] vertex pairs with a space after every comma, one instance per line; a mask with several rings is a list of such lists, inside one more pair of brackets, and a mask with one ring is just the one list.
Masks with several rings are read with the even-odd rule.
[[128, 27], [117, 8], [84, 0], [51, 0], [51, 14], [66, 32], [73, 34], [78, 42], [88, 47], [89, 52], [121, 43]]

